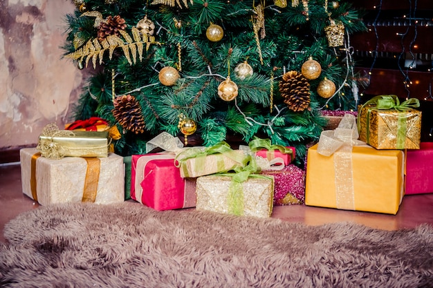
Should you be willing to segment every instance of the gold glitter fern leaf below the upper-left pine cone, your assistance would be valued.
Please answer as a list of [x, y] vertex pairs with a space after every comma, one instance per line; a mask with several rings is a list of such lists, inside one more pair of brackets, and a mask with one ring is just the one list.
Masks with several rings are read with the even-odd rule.
[[[140, 37], [140, 32], [136, 31], [137, 28], [132, 28], [131, 37], [127, 32], [122, 31], [120, 34], [122, 38], [116, 35], [107, 36], [104, 41], [99, 42], [98, 39], [90, 39], [87, 43], [75, 52], [65, 55], [65, 58], [74, 59], [82, 65], [82, 61], [85, 62], [86, 66], [89, 64], [90, 59], [92, 59], [93, 68], [96, 68], [96, 64], [99, 59], [99, 64], [102, 64], [102, 57], [105, 51], [109, 51], [109, 59], [113, 58], [113, 52], [116, 48], [122, 48], [125, 57], [127, 58], [130, 65], [135, 64], [138, 57], [141, 61], [143, 53], [143, 43], [146, 44], [146, 50], [149, 50], [151, 44], [160, 44], [155, 41], [155, 37], [143, 35]], [[129, 52], [131, 51], [131, 52]], [[132, 56], [132, 59], [131, 59]]]

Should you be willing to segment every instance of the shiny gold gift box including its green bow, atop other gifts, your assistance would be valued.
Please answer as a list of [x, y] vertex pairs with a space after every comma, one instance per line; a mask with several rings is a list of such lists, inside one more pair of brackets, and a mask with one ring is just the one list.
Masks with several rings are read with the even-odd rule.
[[378, 149], [419, 149], [421, 111], [419, 100], [400, 103], [396, 95], [379, 95], [360, 106], [360, 140]]

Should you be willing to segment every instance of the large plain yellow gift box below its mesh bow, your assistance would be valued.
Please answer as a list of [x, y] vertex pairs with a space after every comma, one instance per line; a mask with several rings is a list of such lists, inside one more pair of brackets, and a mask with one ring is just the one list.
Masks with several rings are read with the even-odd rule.
[[328, 157], [317, 146], [308, 148], [306, 205], [397, 213], [404, 193], [403, 151], [365, 145]]

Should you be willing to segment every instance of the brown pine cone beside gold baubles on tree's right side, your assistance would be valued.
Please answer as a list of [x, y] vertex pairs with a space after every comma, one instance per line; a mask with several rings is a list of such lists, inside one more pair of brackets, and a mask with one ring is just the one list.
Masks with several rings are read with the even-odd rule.
[[302, 73], [289, 71], [279, 81], [279, 92], [292, 111], [304, 111], [310, 106], [310, 84]]

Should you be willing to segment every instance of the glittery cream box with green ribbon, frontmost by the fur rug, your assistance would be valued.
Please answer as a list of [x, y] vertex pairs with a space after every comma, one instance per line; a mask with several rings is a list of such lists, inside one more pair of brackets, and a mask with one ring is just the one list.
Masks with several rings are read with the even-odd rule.
[[241, 189], [230, 192], [232, 177], [208, 175], [197, 178], [197, 210], [234, 215], [270, 217], [273, 211], [273, 176], [248, 177]]

